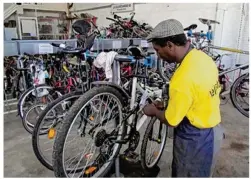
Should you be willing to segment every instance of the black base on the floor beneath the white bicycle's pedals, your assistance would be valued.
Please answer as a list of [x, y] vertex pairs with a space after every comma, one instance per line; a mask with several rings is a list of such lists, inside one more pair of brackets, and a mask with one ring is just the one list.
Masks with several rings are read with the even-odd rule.
[[157, 177], [159, 174], [160, 168], [157, 166], [150, 171], [144, 171], [141, 167], [140, 160], [135, 162], [128, 161], [123, 155], [119, 155], [114, 163], [114, 166], [110, 170], [109, 174], [106, 177], [115, 177], [115, 178], [144, 178], [144, 177]]

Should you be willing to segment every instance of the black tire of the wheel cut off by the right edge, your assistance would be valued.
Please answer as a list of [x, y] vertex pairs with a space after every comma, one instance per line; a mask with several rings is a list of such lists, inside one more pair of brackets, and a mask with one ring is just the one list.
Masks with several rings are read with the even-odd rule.
[[249, 81], [249, 73], [245, 73], [241, 76], [239, 76], [233, 83], [231, 90], [230, 90], [230, 99], [232, 104], [234, 105], [234, 107], [241, 113], [243, 114], [245, 117], [249, 117], [249, 110], [246, 111], [244, 109], [242, 109], [242, 107], [238, 104], [237, 99], [236, 99], [236, 89], [239, 86], [239, 84], [242, 82], [242, 80], [244, 80], [246, 77], [248, 77], [248, 81]]

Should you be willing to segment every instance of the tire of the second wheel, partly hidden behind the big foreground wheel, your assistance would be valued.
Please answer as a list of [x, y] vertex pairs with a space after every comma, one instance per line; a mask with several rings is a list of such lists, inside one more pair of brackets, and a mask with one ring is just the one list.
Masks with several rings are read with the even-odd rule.
[[56, 99], [55, 101], [53, 101], [52, 103], [50, 103], [43, 111], [42, 113], [39, 115], [39, 118], [37, 120], [37, 123], [34, 127], [33, 133], [32, 133], [32, 147], [33, 147], [33, 151], [37, 157], [37, 159], [39, 160], [39, 162], [44, 165], [46, 168], [48, 168], [49, 170], [53, 170], [52, 167], [52, 162], [49, 163], [44, 157], [43, 154], [40, 150], [39, 147], [39, 136], [43, 135], [44, 133], [40, 133], [40, 129], [41, 129], [41, 124], [43, 122], [43, 120], [45, 119], [45, 116], [50, 112], [51, 109], [53, 109], [58, 103], [61, 103], [62, 101], [65, 101], [69, 98], [72, 97], [76, 97], [76, 96], [81, 96], [83, 94], [82, 91], [75, 91], [66, 95], [61, 96], [60, 98]]

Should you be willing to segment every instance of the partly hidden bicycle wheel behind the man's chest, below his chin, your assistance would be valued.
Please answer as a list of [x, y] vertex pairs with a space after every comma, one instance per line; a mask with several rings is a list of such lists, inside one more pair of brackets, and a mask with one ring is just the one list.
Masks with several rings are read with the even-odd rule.
[[157, 70], [159, 72], [160, 77], [168, 82], [170, 81], [174, 71], [175, 71], [175, 63], [167, 63], [162, 59], [157, 59]]

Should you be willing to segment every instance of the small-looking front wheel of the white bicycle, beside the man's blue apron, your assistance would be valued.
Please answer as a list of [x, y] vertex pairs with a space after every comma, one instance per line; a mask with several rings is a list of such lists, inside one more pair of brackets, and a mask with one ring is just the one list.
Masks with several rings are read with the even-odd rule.
[[[154, 127], [156, 127], [154, 129]], [[156, 117], [152, 118], [149, 122], [141, 146], [141, 166], [145, 171], [154, 168], [164, 151], [167, 139], [167, 126], [161, 123]], [[154, 147], [152, 143], [160, 144], [159, 150]], [[150, 150], [150, 151], [148, 151]]]

